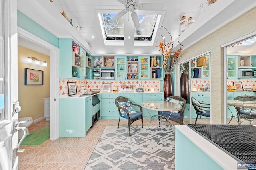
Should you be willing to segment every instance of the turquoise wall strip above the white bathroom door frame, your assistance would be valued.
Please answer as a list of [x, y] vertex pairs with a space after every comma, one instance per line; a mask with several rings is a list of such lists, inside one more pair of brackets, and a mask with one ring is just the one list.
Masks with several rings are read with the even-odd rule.
[[[28, 18], [25, 14], [17, 11], [17, 25], [18, 27], [21, 27], [22, 29], [32, 33], [33, 35], [36, 35], [36, 37], [39, 37], [40, 39], [43, 39], [44, 41], [54, 45], [55, 47], [59, 47], [59, 39], [46, 29], [44, 29], [41, 25], [33, 21], [32, 19]], [[49, 19], [50, 20], [50, 19]]]

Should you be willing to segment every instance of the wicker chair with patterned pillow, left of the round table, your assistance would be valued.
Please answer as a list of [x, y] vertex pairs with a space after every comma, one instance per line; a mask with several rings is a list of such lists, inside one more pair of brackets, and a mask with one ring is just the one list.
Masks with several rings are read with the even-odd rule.
[[[141, 119], [141, 127], [143, 128], [143, 114], [142, 114], [142, 107], [138, 104], [132, 103], [131, 101], [130, 101], [131, 105], [138, 106], [140, 108], [140, 111], [137, 111], [136, 113], [129, 114], [129, 112], [126, 108], [120, 107], [119, 104], [118, 104], [118, 102], [128, 102], [128, 101], [129, 101], [128, 98], [125, 98], [125, 97], [122, 97], [122, 96], [117, 97], [116, 100], [115, 100], [115, 104], [116, 104], [116, 107], [118, 108], [118, 112], [119, 112], [119, 121], [118, 121], [117, 128], [119, 128], [120, 117], [123, 117], [123, 118], [127, 119], [128, 128], [129, 128], [129, 136], [131, 136], [130, 125], [134, 121]], [[126, 112], [126, 114], [125, 115], [122, 114], [120, 110], [124, 110]]]

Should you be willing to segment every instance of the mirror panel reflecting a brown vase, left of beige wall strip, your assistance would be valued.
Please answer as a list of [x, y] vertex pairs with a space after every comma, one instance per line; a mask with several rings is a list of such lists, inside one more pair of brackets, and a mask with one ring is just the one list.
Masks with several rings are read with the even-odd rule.
[[[187, 100], [184, 121], [188, 124], [195, 124], [195, 122], [196, 124], [210, 124], [210, 53], [203, 53], [185, 63], [180, 63], [179, 68], [179, 92], [180, 96]], [[202, 109], [207, 116], [197, 114], [191, 102], [192, 97], [203, 103]]]

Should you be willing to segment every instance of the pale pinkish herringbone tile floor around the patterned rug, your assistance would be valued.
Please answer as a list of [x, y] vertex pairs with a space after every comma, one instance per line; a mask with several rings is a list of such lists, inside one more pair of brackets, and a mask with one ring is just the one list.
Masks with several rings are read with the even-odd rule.
[[[197, 124], [208, 124], [209, 120], [208, 118], [198, 119]], [[189, 124], [189, 119], [184, 121]], [[143, 120], [144, 128], [147, 128], [149, 122], [149, 119]], [[29, 131], [33, 133], [49, 124], [49, 121], [42, 120], [32, 124]], [[178, 125], [173, 121], [171, 124]], [[236, 122], [232, 121], [232, 124], [236, 124]], [[38, 146], [22, 145], [21, 149], [25, 149], [25, 151], [19, 154], [19, 170], [84, 170], [104, 128], [117, 125], [117, 119], [102, 119], [98, 120], [83, 138], [59, 138], [55, 141], [47, 139]], [[120, 126], [126, 125], [127, 120], [120, 120]], [[132, 125], [139, 126], [141, 122], [136, 121]], [[151, 125], [157, 124], [152, 122]]]

